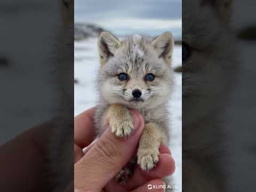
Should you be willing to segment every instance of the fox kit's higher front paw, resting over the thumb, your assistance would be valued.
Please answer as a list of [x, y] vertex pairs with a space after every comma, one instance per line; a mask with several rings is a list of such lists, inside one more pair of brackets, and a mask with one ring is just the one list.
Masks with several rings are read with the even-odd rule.
[[111, 132], [116, 135], [116, 137], [128, 137], [134, 130], [132, 117], [123, 118], [123, 119], [110, 119], [109, 122]]

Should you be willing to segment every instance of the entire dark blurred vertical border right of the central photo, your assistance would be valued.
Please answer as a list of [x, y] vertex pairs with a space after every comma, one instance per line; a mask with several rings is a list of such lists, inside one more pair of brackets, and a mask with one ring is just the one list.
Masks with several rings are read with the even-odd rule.
[[255, 191], [255, 7], [182, 1], [184, 192]]

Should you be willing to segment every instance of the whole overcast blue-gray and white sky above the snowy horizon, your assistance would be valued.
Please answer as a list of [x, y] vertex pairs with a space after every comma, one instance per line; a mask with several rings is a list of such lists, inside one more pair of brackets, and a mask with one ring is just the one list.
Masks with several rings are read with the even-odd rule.
[[75, 22], [97, 23], [116, 35], [181, 37], [181, 0], [75, 0]]

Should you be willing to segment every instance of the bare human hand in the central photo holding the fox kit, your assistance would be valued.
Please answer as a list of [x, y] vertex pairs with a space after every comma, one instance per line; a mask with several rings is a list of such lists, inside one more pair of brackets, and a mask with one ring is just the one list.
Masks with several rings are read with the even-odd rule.
[[[132, 178], [125, 186], [113, 179], [135, 153], [144, 127], [142, 116], [135, 110], [131, 110], [131, 113], [135, 130], [130, 137], [116, 138], [110, 129], [106, 129], [101, 138], [94, 143], [92, 143], [94, 140], [94, 108], [75, 117], [74, 185], [78, 192], [148, 191], [147, 185], [164, 185], [161, 178], [174, 172], [175, 165], [170, 150], [166, 146], [161, 146], [159, 162], [155, 169], [146, 172], [138, 166], [135, 167]], [[164, 189], [151, 189], [150, 191], [164, 191]]]

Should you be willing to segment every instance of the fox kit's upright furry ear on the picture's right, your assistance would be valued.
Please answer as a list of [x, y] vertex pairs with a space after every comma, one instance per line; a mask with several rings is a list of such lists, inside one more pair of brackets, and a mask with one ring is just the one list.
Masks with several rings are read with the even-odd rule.
[[171, 65], [174, 42], [171, 32], [165, 32], [156, 37], [153, 46], [159, 58], [163, 58], [167, 65]]

